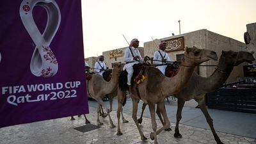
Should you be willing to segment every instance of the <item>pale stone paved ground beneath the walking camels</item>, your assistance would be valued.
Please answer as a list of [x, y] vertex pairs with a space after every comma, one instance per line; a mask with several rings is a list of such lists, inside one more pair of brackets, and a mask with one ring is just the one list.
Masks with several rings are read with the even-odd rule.
[[[96, 108], [93, 106], [94, 104], [95, 102], [90, 101], [90, 114], [88, 115], [88, 119], [92, 122], [92, 124], [95, 125], [96, 114], [94, 112], [96, 111]], [[125, 108], [125, 111], [131, 111], [129, 106]], [[111, 113], [111, 117], [114, 124], [117, 124], [116, 111]], [[116, 128], [109, 128], [108, 118], [100, 118], [104, 125], [101, 125], [99, 129], [95, 129], [89, 132], [80, 132], [74, 129], [75, 127], [84, 125], [83, 117], [77, 118], [76, 116], [75, 118], [76, 120], [74, 121], [70, 121], [70, 118], [67, 117], [58, 118], [55, 120], [46, 120], [43, 122], [35, 122], [31, 124], [4, 127], [0, 129], [0, 143], [154, 143], [152, 140], [140, 140], [140, 134], [136, 129], [136, 125], [134, 124], [130, 113], [125, 113], [125, 118], [129, 120], [129, 123], [121, 123], [121, 129], [123, 132], [122, 136], [116, 136]], [[174, 118], [172, 118], [172, 120], [173, 119]], [[157, 120], [157, 125], [161, 125], [159, 120]], [[149, 134], [152, 132], [150, 118], [144, 117], [141, 127], [145, 136], [149, 138]], [[173, 129], [174, 127], [175, 124], [172, 124]], [[207, 129], [200, 129], [181, 124], [180, 133], [182, 134], [183, 138], [174, 138], [173, 133], [174, 131], [161, 132], [157, 137], [159, 143], [215, 143], [211, 131]], [[223, 143], [226, 144], [256, 143], [255, 138], [246, 138], [243, 136], [227, 134], [225, 132], [218, 132], [218, 135], [220, 136], [220, 139], [223, 141]]]

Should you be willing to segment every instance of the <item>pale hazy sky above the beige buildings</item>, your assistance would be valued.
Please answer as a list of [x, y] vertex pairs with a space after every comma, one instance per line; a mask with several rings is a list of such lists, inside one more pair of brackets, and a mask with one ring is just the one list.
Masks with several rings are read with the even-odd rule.
[[[207, 29], [241, 42], [256, 22], [256, 0], [81, 0], [84, 58], [152, 38]], [[152, 37], [152, 38], [151, 38]]]

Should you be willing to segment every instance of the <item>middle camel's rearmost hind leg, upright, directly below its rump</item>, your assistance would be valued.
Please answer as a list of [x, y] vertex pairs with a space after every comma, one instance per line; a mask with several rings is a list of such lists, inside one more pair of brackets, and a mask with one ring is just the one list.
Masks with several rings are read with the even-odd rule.
[[117, 108], [117, 112], [116, 112], [116, 116], [117, 116], [117, 132], [116, 132], [116, 135], [118, 135], [118, 136], [122, 135], [122, 132], [120, 130], [120, 113], [122, 111], [122, 103], [124, 102], [124, 98], [125, 98], [125, 92], [122, 92], [118, 88], [118, 91], [117, 91], [118, 108]]

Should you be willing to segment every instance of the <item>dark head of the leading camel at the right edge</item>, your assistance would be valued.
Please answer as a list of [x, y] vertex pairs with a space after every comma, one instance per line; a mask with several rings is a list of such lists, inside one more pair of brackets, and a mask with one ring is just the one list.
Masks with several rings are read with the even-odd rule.
[[255, 60], [253, 58], [253, 52], [246, 51], [222, 51], [220, 59], [225, 60], [227, 65], [237, 66], [243, 62], [252, 63]]

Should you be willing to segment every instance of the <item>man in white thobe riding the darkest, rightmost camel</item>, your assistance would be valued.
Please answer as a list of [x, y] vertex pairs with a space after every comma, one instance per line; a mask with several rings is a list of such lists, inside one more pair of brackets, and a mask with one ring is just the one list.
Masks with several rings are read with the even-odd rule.
[[159, 45], [159, 50], [155, 52], [154, 59], [157, 61], [153, 61], [154, 65], [158, 65], [156, 68], [158, 68], [163, 74], [165, 74], [165, 68], [167, 67], [167, 64], [170, 63], [168, 61], [171, 61], [168, 54], [164, 52], [166, 49], [166, 42], [161, 42]]

